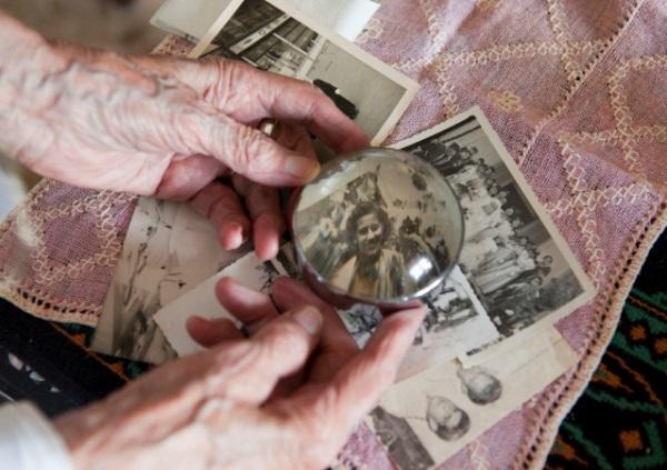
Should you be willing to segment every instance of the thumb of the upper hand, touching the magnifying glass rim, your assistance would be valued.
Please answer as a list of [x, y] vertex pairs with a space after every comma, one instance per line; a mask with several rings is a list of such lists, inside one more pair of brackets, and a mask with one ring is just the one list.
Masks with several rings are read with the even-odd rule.
[[266, 186], [301, 186], [319, 173], [317, 160], [278, 144], [208, 104], [202, 108], [177, 118], [183, 153], [211, 156], [232, 171]]

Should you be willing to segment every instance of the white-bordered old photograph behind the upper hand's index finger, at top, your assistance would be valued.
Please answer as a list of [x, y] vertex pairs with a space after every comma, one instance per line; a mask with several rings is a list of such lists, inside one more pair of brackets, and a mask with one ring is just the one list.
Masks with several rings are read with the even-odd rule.
[[192, 56], [241, 60], [309, 81], [374, 144], [385, 140], [418, 89], [411, 79], [280, 0], [232, 1], [216, 26], [215, 37], [202, 39]]

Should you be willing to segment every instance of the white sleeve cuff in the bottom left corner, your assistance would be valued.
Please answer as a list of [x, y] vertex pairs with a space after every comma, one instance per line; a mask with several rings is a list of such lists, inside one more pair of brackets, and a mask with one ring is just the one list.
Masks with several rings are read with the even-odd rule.
[[73, 469], [64, 441], [29, 402], [0, 406], [0, 456], [8, 469]]

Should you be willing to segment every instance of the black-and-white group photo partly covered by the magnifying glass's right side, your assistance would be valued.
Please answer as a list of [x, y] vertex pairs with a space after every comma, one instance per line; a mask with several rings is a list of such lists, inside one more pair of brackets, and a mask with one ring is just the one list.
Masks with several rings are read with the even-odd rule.
[[459, 266], [502, 338], [588, 301], [593, 286], [507, 154], [474, 109], [395, 147], [431, 163], [464, 211]]

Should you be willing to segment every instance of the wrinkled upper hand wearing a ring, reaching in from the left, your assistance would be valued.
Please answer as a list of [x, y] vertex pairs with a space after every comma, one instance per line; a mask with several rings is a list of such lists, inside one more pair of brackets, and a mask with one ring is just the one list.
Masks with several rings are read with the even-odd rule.
[[[280, 122], [275, 139], [255, 129], [265, 118]], [[237, 61], [52, 43], [0, 12], [0, 149], [72, 184], [195, 198], [226, 249], [253, 227], [258, 256], [276, 254], [283, 221], [266, 186], [317, 174], [309, 133], [339, 151], [368, 143], [309, 83]], [[230, 172], [245, 178], [215, 181]]]

